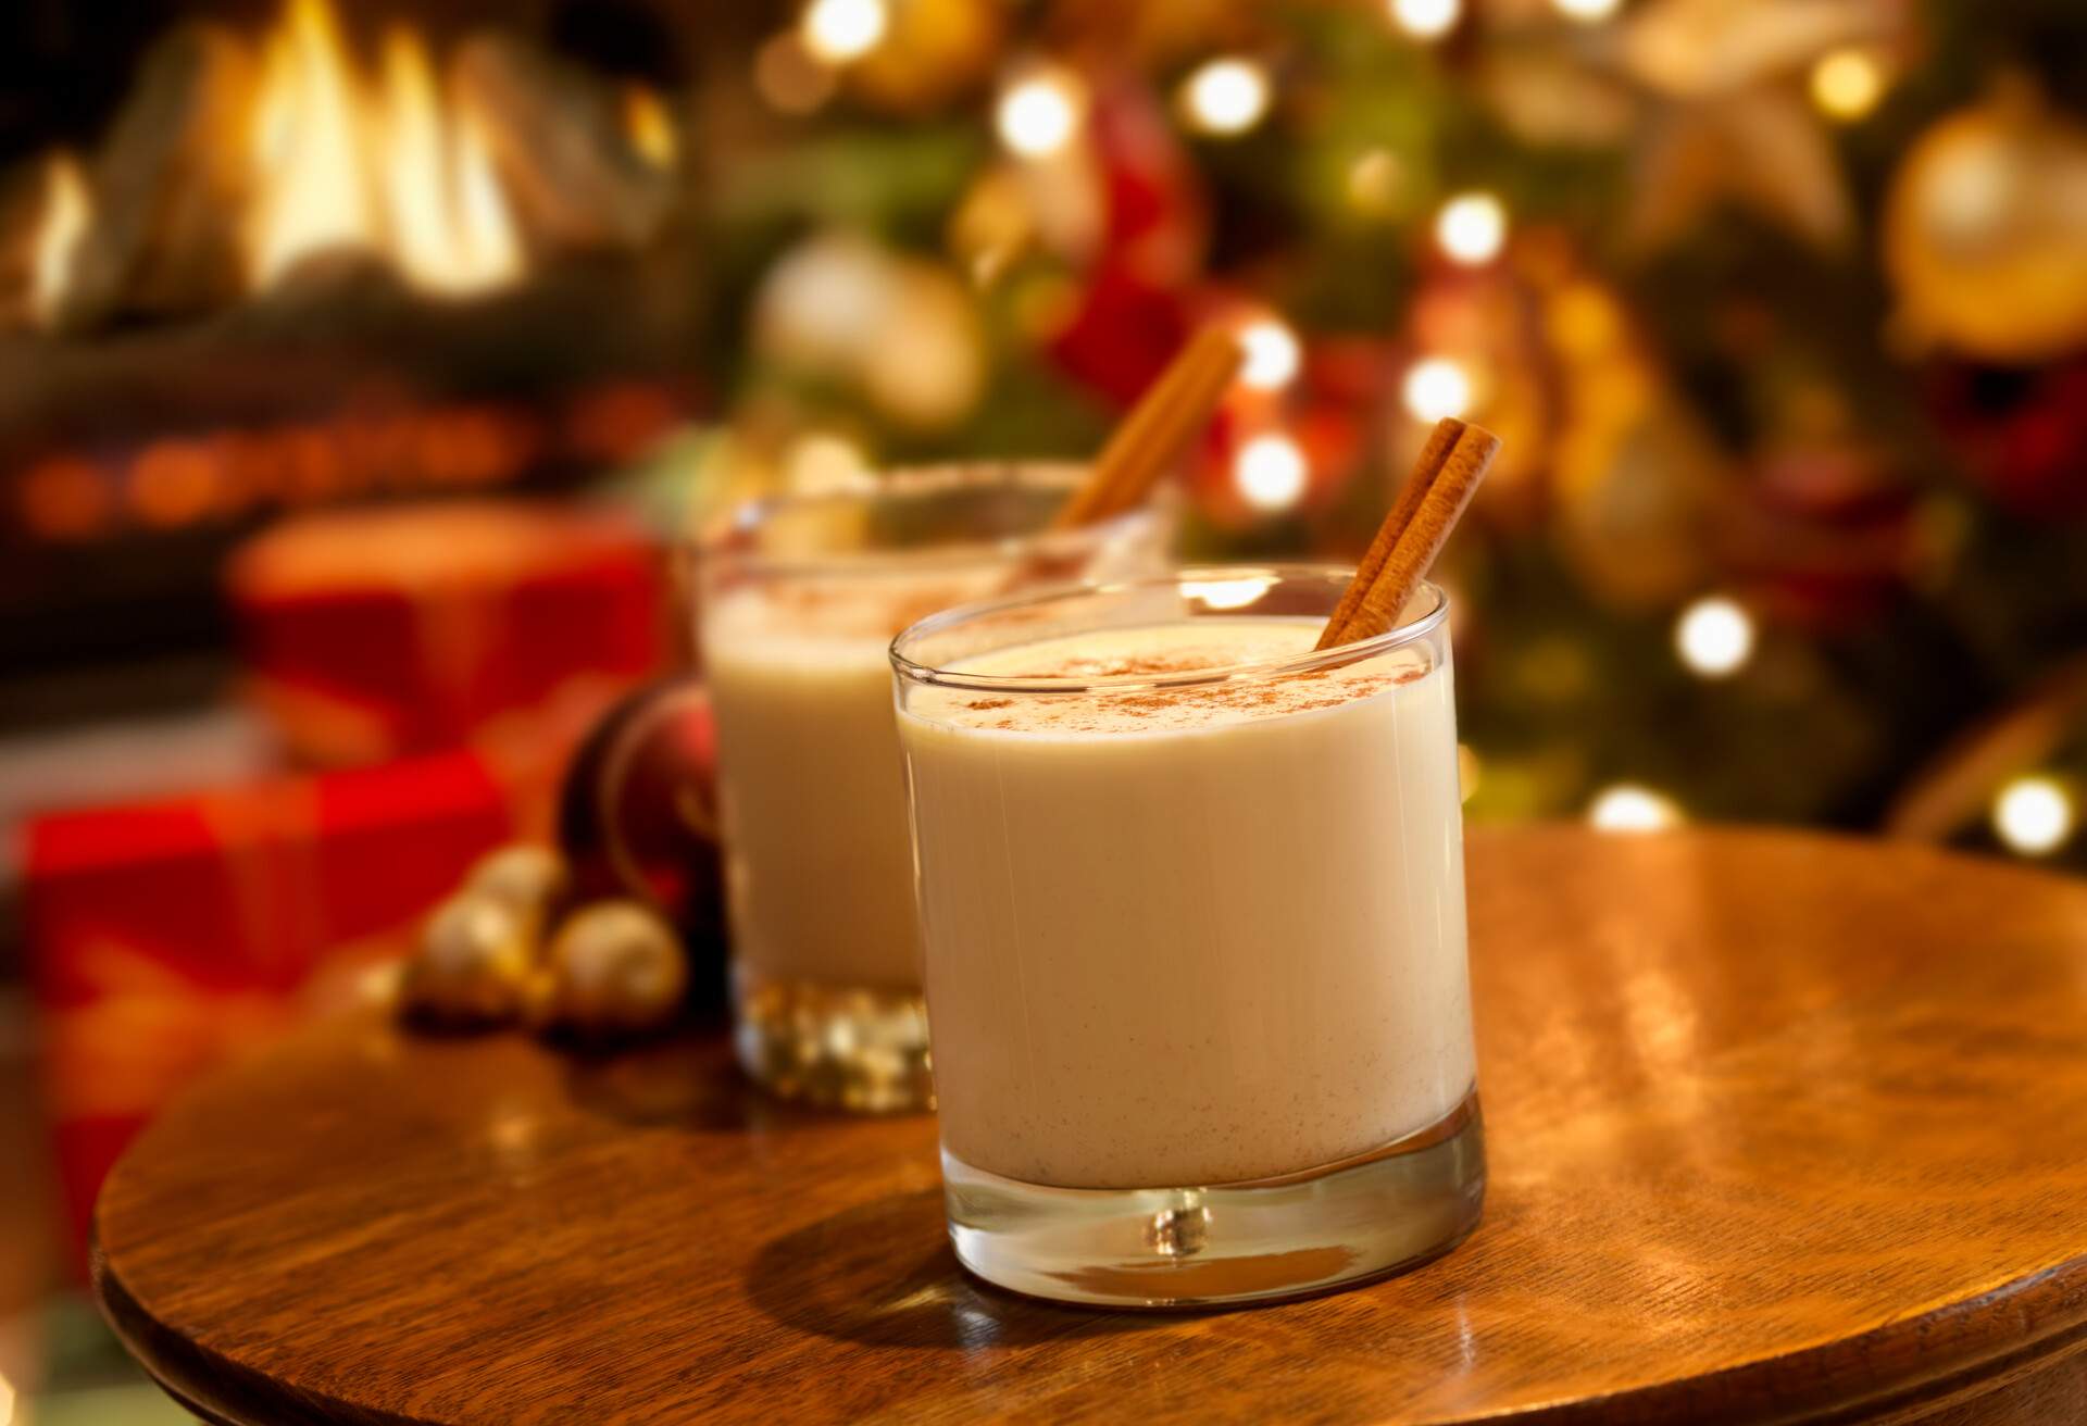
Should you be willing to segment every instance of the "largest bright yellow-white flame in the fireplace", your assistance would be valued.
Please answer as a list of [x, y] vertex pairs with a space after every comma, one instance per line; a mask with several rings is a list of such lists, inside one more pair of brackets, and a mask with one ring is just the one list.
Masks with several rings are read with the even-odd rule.
[[522, 240], [472, 113], [409, 29], [363, 79], [328, 0], [288, 0], [253, 109], [255, 288], [328, 248], [388, 255], [419, 288], [465, 294], [522, 274]]

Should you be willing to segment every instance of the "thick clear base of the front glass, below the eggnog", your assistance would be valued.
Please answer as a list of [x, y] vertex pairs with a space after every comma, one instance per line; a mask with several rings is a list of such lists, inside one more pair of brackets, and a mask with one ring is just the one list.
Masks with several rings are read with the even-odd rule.
[[1375, 1152], [1206, 1188], [1046, 1188], [941, 1155], [956, 1257], [987, 1282], [1096, 1307], [1309, 1297], [1417, 1267], [1478, 1228], [1478, 1090]]

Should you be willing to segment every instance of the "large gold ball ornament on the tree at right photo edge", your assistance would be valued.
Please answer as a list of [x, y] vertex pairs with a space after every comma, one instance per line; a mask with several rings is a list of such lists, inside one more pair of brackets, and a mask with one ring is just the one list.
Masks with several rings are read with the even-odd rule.
[[2033, 363], [2087, 342], [2087, 132], [2037, 96], [1962, 109], [1905, 152], [1885, 265], [1916, 344]]

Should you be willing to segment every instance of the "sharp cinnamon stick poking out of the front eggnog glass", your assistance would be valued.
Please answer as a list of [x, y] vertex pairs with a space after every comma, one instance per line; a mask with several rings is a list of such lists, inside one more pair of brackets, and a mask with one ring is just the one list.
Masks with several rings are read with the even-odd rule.
[[1332, 649], [1398, 626], [1407, 599], [1442, 553], [1498, 451], [1501, 438], [1482, 426], [1459, 420], [1436, 424], [1317, 647]]

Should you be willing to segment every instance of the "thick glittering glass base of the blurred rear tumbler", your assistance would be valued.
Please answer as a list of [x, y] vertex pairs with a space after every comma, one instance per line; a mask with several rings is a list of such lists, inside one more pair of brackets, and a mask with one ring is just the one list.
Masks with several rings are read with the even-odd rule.
[[935, 1107], [918, 992], [768, 979], [739, 967], [733, 1048], [783, 1098], [862, 1113]]

